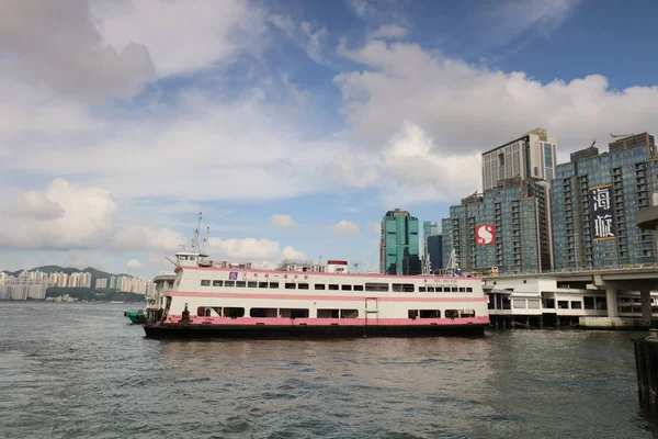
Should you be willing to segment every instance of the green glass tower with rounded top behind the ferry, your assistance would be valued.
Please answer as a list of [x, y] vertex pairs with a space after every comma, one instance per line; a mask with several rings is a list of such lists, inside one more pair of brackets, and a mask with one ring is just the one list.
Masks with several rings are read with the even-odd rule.
[[379, 272], [420, 274], [418, 218], [400, 209], [386, 212], [382, 218]]

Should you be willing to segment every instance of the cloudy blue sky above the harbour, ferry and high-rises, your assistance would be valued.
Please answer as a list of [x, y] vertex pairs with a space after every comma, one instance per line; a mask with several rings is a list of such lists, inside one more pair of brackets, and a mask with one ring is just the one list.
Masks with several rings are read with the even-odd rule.
[[0, 269], [152, 277], [203, 212], [214, 260], [378, 264], [480, 155], [658, 132], [658, 4], [5, 0]]

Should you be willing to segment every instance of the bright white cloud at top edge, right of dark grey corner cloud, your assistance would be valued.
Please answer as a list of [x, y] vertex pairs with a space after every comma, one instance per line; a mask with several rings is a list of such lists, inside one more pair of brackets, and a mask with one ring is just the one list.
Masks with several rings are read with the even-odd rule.
[[103, 37], [116, 47], [148, 47], [159, 77], [188, 74], [258, 50], [265, 14], [247, 0], [94, 2]]

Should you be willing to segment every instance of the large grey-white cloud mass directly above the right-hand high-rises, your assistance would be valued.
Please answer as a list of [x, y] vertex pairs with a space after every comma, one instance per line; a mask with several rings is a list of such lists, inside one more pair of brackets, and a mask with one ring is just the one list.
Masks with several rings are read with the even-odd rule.
[[[368, 146], [385, 201], [457, 200], [480, 187], [484, 150], [537, 126], [557, 140], [560, 161], [610, 132], [658, 131], [658, 87], [612, 90], [602, 76], [549, 83], [523, 72], [469, 66], [417, 44], [370, 41], [339, 52], [365, 67], [341, 74], [351, 135]], [[578, 121], [578, 123], [574, 123]], [[601, 142], [603, 140], [603, 142]], [[349, 161], [348, 161], [349, 162]], [[366, 161], [343, 175], [361, 176]], [[345, 169], [348, 171], [345, 171]]]

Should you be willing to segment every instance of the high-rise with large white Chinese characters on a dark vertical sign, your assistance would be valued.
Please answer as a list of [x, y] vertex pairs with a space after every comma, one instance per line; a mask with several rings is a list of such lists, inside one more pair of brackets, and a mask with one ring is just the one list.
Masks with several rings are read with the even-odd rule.
[[633, 135], [599, 154], [590, 147], [558, 165], [553, 191], [556, 269], [656, 262], [656, 236], [636, 226], [658, 192], [654, 136]]

